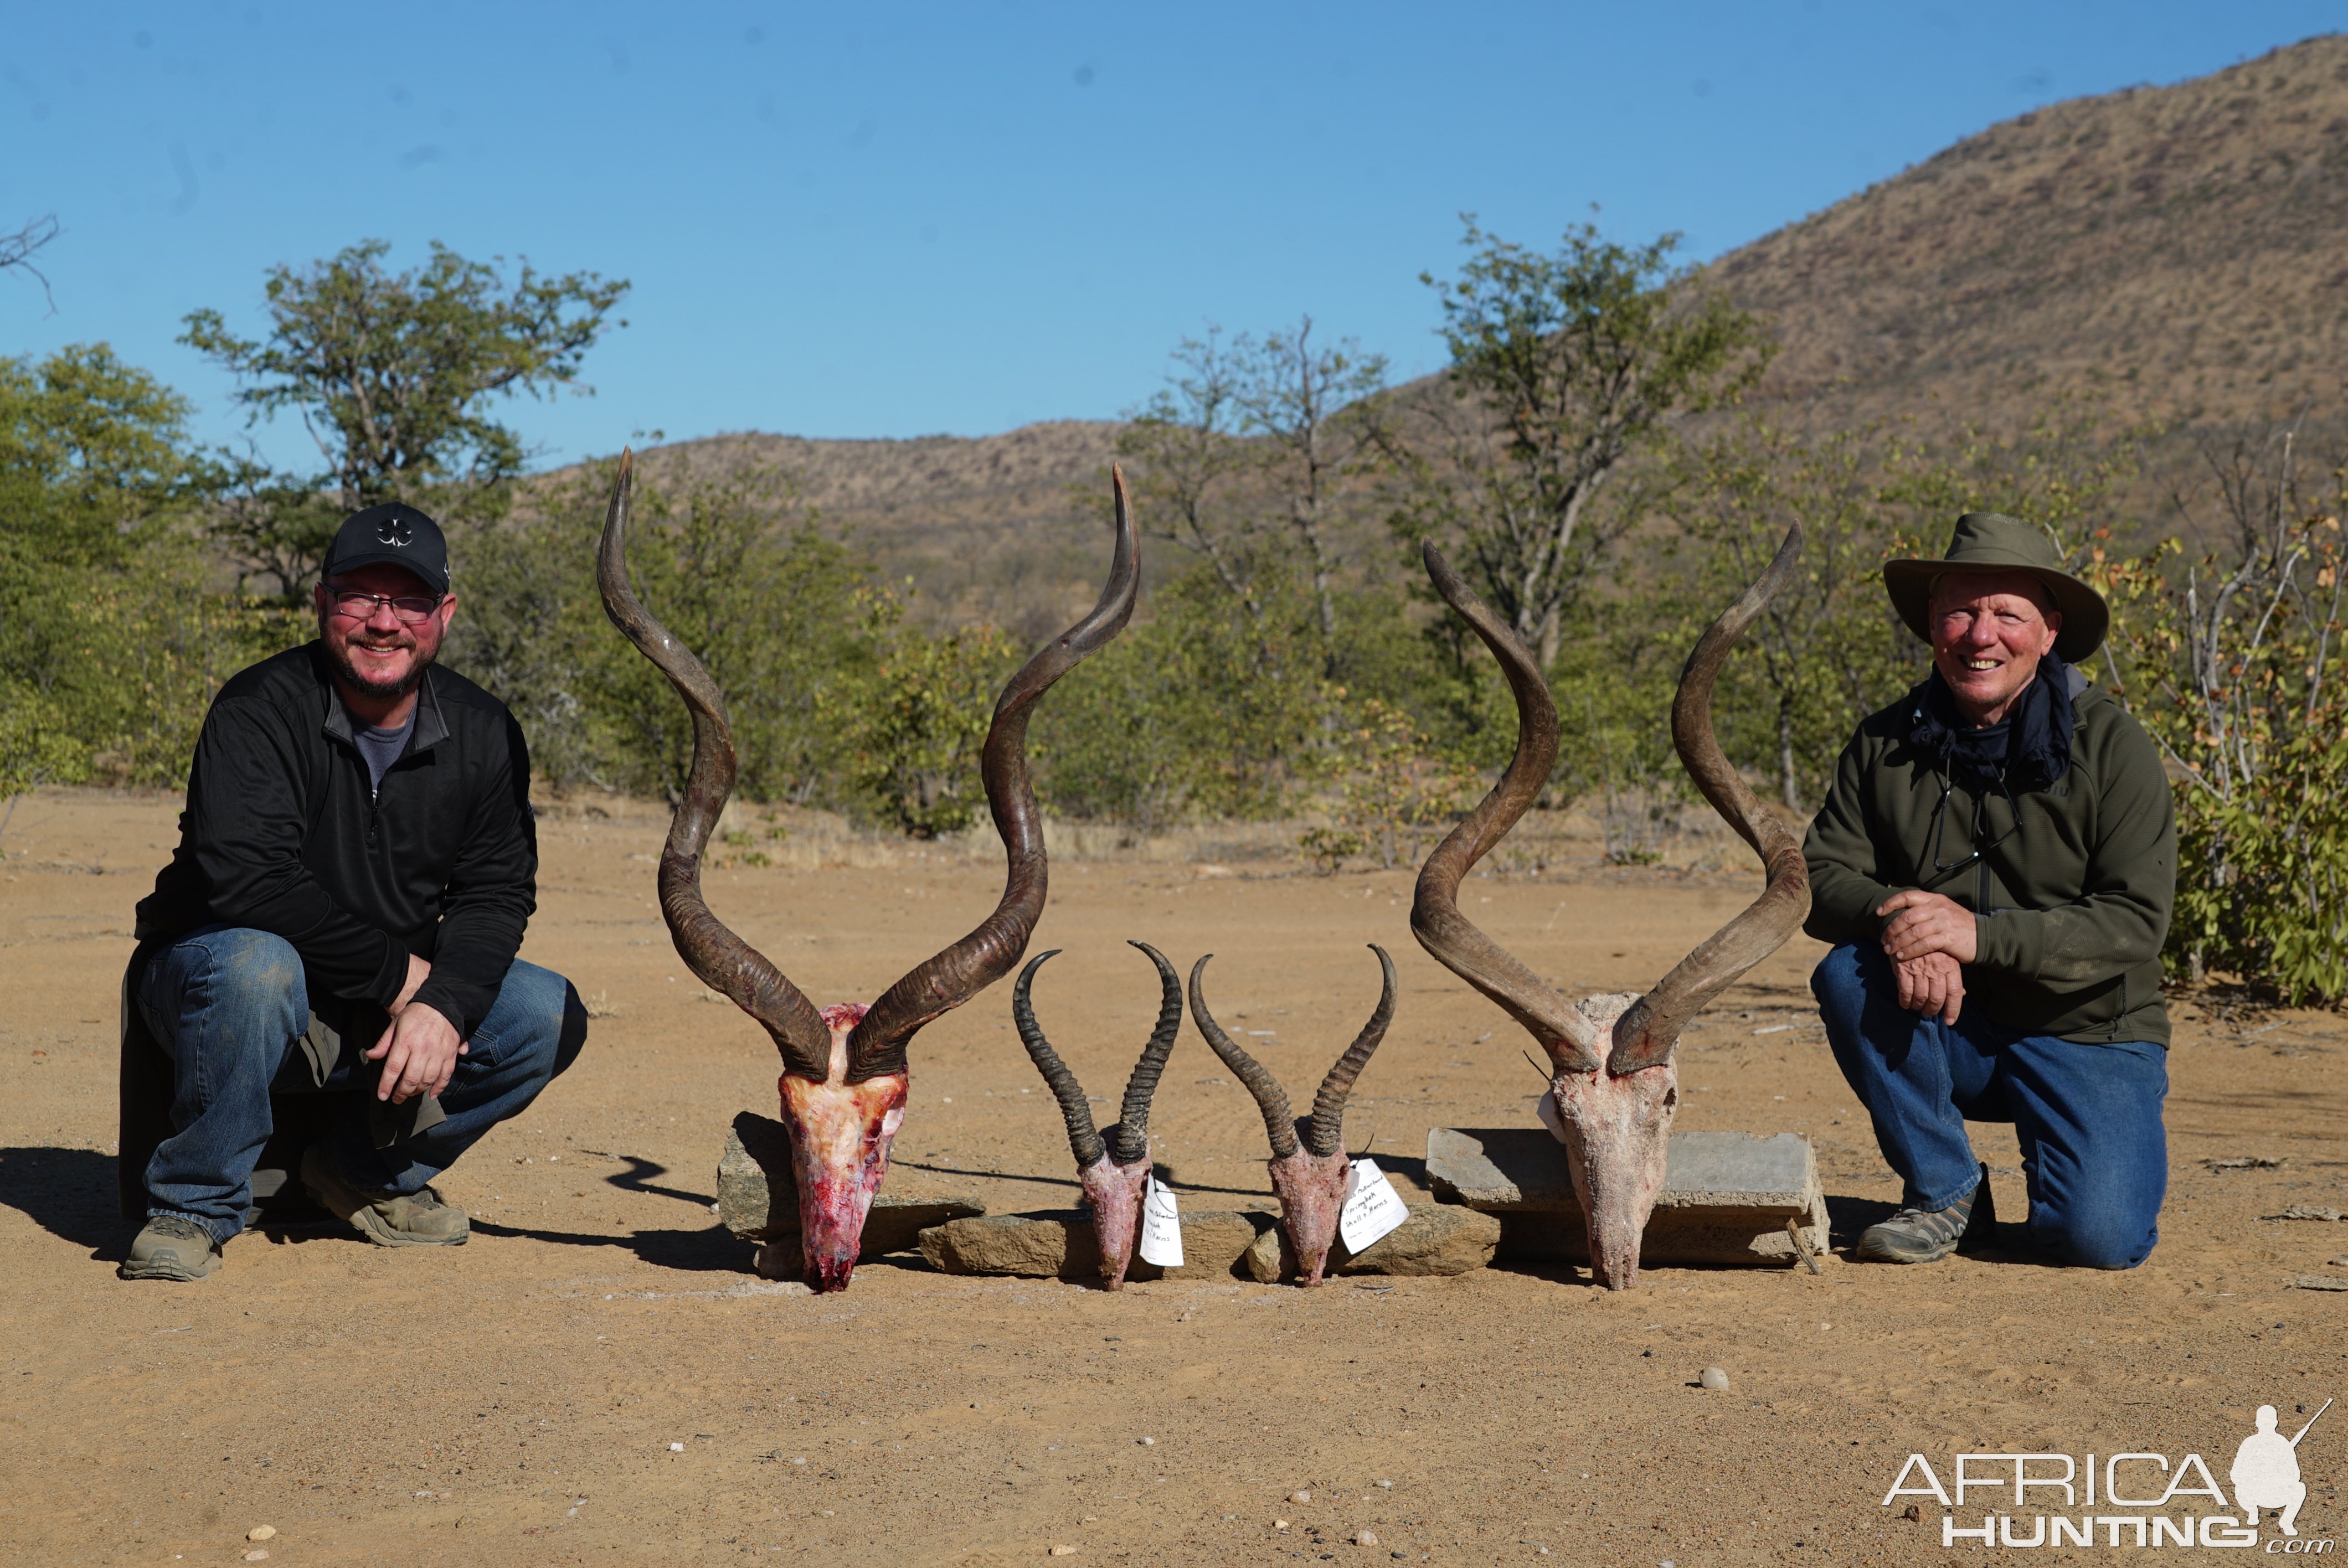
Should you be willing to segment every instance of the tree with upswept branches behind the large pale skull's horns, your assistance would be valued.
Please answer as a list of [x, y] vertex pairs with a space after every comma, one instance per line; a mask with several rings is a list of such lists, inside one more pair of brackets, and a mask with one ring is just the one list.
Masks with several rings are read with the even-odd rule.
[[1397, 523], [1458, 540], [1477, 589], [1543, 667], [1566, 613], [1639, 516], [1599, 493], [1679, 415], [1735, 401], [1773, 343], [1761, 322], [1672, 268], [1676, 235], [1644, 246], [1566, 230], [1557, 254], [1465, 221], [1472, 256], [1439, 291], [1449, 401], [1388, 415], [1409, 474]]

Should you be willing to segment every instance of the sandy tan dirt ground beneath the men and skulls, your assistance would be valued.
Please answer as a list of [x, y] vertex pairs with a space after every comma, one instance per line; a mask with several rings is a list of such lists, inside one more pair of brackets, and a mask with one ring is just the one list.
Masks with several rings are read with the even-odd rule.
[[[772, 1110], [775, 1054], [674, 958], [650, 892], [664, 822], [646, 807], [545, 824], [524, 953], [608, 1016], [446, 1178], [477, 1216], [470, 1246], [282, 1230], [232, 1242], [207, 1282], [122, 1284], [113, 998], [174, 807], [49, 791], [5, 840], [0, 1561], [225, 1563], [268, 1523], [268, 1561], [296, 1566], [1014, 1563], [1052, 1547], [1916, 1563], [1942, 1554], [1939, 1507], [1878, 1505], [1911, 1451], [1942, 1476], [1958, 1451], [2198, 1451], [2224, 1479], [2256, 1404], [2292, 1430], [2294, 1406], [2348, 1394], [2348, 1293], [2289, 1289], [2348, 1275], [2348, 1223], [2261, 1221], [2348, 1207], [2348, 1028], [2214, 1002], [2179, 1009], [2163, 1244], [2127, 1275], [2017, 1251], [1822, 1277], [1653, 1268], [1625, 1296], [1505, 1268], [1108, 1296], [906, 1258], [859, 1268], [843, 1296], [777, 1293], [709, 1211], [728, 1120]], [[1543, 972], [1622, 991], [1752, 885], [1587, 871], [1477, 880], [1463, 904]], [[711, 878], [716, 908], [819, 1002], [869, 1000], [996, 890], [998, 871], [953, 857]], [[1125, 937], [1183, 965], [1219, 951], [1219, 1014], [1275, 1030], [1254, 1045], [1298, 1101], [1367, 1016], [1362, 944], [1378, 941], [1402, 1005], [1350, 1143], [1376, 1136], [1413, 1188], [1430, 1124], [1533, 1124], [1522, 1040], [1411, 941], [1404, 873], [1094, 861], [1054, 866], [1052, 894], [1038, 951], [1066, 955], [1038, 1009], [1094, 1094], [1118, 1091], [1158, 1005]], [[1897, 1183], [1808, 1007], [1815, 955], [1796, 939], [1688, 1035], [1679, 1124], [1808, 1134], [1848, 1246]], [[1268, 1204], [1254, 1106], [1188, 1026], [1153, 1131], [1188, 1207]], [[2019, 1221], [2010, 1129], [1975, 1136]], [[1007, 988], [920, 1035], [897, 1153], [998, 1214], [1071, 1202]], [[2287, 1164], [2205, 1167], [2240, 1155]], [[1707, 1364], [1730, 1392], [1693, 1387]], [[2343, 1453], [2336, 1408], [2301, 1446], [2308, 1537], [2348, 1528]]]

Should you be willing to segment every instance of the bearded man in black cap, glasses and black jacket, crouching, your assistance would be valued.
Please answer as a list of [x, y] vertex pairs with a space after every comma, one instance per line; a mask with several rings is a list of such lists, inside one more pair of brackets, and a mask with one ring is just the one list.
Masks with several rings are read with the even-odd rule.
[[[329, 1211], [380, 1246], [463, 1244], [432, 1178], [587, 1038], [571, 984], [514, 958], [538, 901], [531, 758], [505, 704], [434, 664], [456, 615], [439, 526], [397, 502], [348, 519], [312, 603], [317, 641], [214, 697], [178, 850], [139, 904], [122, 1183], [146, 1225], [124, 1279], [218, 1265], [272, 1087], [345, 1089], [301, 1155]], [[150, 1103], [139, 1138], [157, 1049], [169, 1115]]]

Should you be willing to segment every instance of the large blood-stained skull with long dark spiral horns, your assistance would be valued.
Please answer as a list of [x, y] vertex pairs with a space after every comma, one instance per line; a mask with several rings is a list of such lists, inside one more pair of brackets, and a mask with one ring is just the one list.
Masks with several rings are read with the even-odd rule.
[[702, 899], [702, 850], [735, 784], [733, 728], [726, 697], [702, 662], [669, 636], [627, 582], [627, 500], [634, 453], [620, 453], [610, 486], [596, 582], [603, 610], [627, 641], [669, 678], [693, 714], [693, 770], [660, 852], [660, 913], [679, 958], [702, 981], [733, 998], [782, 1052], [782, 1124], [791, 1134], [798, 1176], [798, 1237], [805, 1282], [817, 1291], [848, 1289], [864, 1239], [864, 1216], [888, 1174], [890, 1141], [904, 1120], [904, 1047], [925, 1023], [960, 1007], [1010, 974], [1026, 953], [1043, 915], [1047, 866], [1043, 815], [1026, 770], [1026, 728], [1054, 681], [1104, 648], [1134, 613], [1141, 582], [1125, 474], [1111, 469], [1118, 502], [1118, 545], [1108, 587], [1092, 615], [1068, 627], [1031, 657], [1003, 697], [979, 753], [979, 777], [996, 831], [1003, 833], [1007, 873], [1003, 899], [974, 932], [916, 965], [878, 1002], [817, 1009], [763, 953], [735, 937]]

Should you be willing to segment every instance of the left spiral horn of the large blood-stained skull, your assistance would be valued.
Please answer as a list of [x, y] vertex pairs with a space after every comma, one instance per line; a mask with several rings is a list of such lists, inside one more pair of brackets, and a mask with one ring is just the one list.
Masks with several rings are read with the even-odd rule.
[[815, 1002], [801, 995], [763, 953], [726, 930], [702, 899], [702, 850], [735, 784], [733, 728], [726, 723], [726, 695], [709, 678], [709, 669], [653, 620], [627, 582], [627, 500], [634, 477], [636, 455], [622, 451], [620, 474], [610, 484], [610, 507], [603, 514], [603, 542], [596, 549], [596, 587], [603, 589], [603, 613], [610, 615], [610, 624], [653, 660], [693, 711], [693, 770], [686, 775], [676, 817], [669, 819], [669, 843], [660, 850], [660, 913], [669, 922], [676, 953], [702, 984], [733, 998], [775, 1038], [784, 1070], [822, 1080], [829, 1073], [831, 1030], [815, 1012]]

